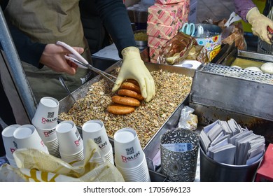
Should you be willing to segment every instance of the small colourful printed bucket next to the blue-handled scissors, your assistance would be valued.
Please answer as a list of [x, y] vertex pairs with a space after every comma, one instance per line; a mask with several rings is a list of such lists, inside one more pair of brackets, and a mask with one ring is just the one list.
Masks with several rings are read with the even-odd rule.
[[198, 26], [200, 25], [204, 29], [204, 34], [206, 34], [206, 32], [214, 34], [213, 36], [195, 37], [197, 44], [202, 45], [204, 46], [204, 48], [206, 48], [209, 61], [211, 62], [211, 60], [214, 59], [214, 57], [216, 57], [218, 52], [220, 52], [221, 50], [222, 29], [218, 27], [217, 25], [211, 25], [211, 24], [195, 24], [195, 29], [197, 29]]

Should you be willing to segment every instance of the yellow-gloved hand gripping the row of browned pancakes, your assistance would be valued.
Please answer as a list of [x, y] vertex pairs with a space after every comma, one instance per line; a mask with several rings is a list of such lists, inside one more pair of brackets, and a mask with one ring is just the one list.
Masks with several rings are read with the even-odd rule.
[[121, 54], [123, 55], [123, 64], [112, 91], [118, 90], [124, 80], [134, 79], [139, 83], [142, 97], [146, 102], [150, 102], [155, 97], [155, 82], [140, 57], [139, 48], [127, 47], [123, 49]]

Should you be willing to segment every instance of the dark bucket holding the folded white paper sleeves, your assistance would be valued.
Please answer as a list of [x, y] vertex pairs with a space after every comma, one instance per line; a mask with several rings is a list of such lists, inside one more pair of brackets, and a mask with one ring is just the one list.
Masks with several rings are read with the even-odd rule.
[[[200, 145], [200, 143], [199, 143]], [[252, 165], [228, 165], [209, 158], [200, 147], [201, 182], [252, 182], [262, 158]]]

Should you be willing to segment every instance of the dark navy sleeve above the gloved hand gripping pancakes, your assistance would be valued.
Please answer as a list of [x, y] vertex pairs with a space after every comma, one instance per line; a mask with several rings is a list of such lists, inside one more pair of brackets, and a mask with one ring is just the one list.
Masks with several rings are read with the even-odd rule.
[[96, 0], [96, 7], [104, 26], [111, 35], [120, 57], [121, 51], [136, 46], [134, 32], [122, 0]]

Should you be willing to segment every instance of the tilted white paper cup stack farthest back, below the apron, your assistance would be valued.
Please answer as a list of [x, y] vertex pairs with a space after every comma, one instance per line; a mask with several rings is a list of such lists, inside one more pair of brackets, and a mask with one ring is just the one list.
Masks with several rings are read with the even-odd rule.
[[59, 141], [57, 139], [56, 126], [59, 113], [59, 102], [52, 97], [43, 97], [37, 107], [32, 124], [36, 127], [38, 134], [45, 146], [48, 147], [50, 155], [60, 158]]

